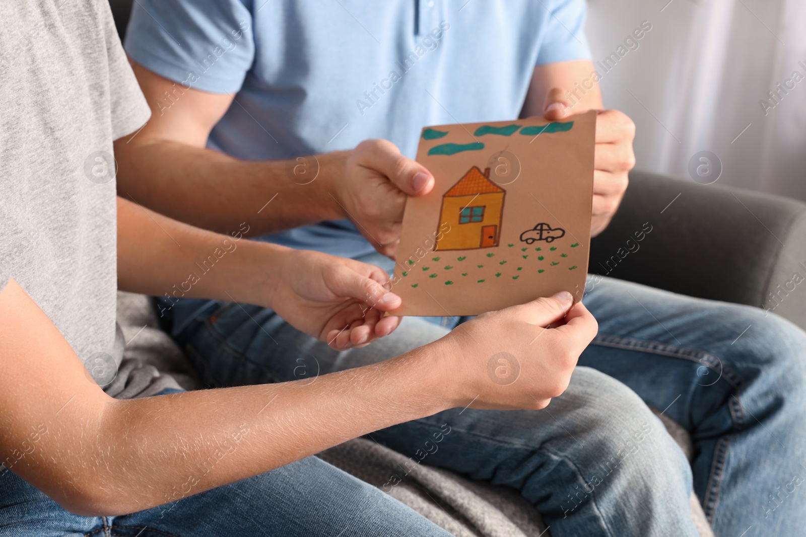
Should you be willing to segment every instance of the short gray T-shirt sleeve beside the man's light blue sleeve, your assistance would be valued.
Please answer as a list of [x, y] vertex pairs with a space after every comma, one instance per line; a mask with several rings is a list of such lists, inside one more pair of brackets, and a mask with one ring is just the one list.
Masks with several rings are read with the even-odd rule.
[[108, 2], [102, 9], [103, 30], [106, 39], [106, 56], [109, 62], [110, 114], [112, 118], [112, 139], [138, 130], [151, 117], [146, 98], [131, 71], [131, 65], [123, 52], [118, 31]]

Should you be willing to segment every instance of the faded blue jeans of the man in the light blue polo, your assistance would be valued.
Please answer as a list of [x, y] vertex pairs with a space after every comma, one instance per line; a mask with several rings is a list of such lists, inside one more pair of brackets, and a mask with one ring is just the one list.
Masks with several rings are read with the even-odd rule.
[[[388, 266], [380, 256], [364, 261]], [[606, 375], [582, 382], [580, 377], [592, 377], [592, 370], [580, 367], [566, 395], [586, 400], [588, 407], [571, 412], [552, 402], [546, 414], [561, 429], [550, 427], [541, 412], [464, 411], [461, 419], [472, 423], [454, 437], [459, 451], [446, 449], [444, 460], [434, 457], [427, 464], [520, 489], [557, 536], [653, 535], [652, 528], [642, 526], [645, 518], [659, 527], [683, 527], [676, 531], [693, 535], [683, 521], [688, 509], [683, 497], [692, 474], [694, 490], [718, 536], [802, 531], [806, 526], [806, 490], [800, 486], [806, 477], [806, 333], [758, 308], [692, 299], [615, 279], [591, 277], [584, 303], [600, 330], [580, 357], [580, 366]], [[408, 318], [391, 337], [364, 349], [335, 353], [302, 336], [270, 310], [222, 303], [197, 318], [179, 340], [210, 386], [228, 386], [310, 378], [361, 366], [433, 341], [459, 322], [458, 318]], [[646, 405], [665, 411], [688, 429], [695, 448], [691, 468], [680, 464], [679, 450], [662, 441], [666, 435], [654, 428], [657, 434], [644, 444], [647, 449], [642, 454], [659, 450], [663, 461], [641, 460], [630, 468], [632, 475], [622, 472], [602, 485], [625, 494], [617, 494], [618, 499], [608, 503], [602, 502], [606, 491], [598, 489], [585, 498], [579, 494], [569, 498], [575, 487], [589, 490], [589, 484], [600, 479], [601, 460], [623, 452], [624, 420], [634, 427], [655, 423], [646, 415]], [[455, 423], [453, 419], [458, 418], [451, 418], [452, 413], [434, 419]], [[596, 415], [599, 421], [592, 423], [580, 414]], [[418, 428], [431, 420], [404, 423], [373, 436], [410, 455], [411, 442], [422, 438]], [[532, 445], [542, 452], [553, 442], [567, 440], [569, 432], [577, 440], [588, 435], [610, 439], [605, 448], [593, 448], [596, 442], [585, 440], [564, 447], [567, 464], [577, 469], [577, 481], [570, 474], [542, 474], [538, 469], [545, 469], [545, 459], [518, 451]], [[480, 449], [480, 437], [497, 448]], [[503, 477], [501, 468], [509, 468], [513, 461], [521, 465], [516, 472], [521, 478]], [[675, 473], [681, 488], [659, 485], [656, 473], [669, 479]], [[635, 489], [623, 485], [622, 479], [646, 483], [642, 493], [646, 497], [638, 495], [636, 501], [652, 503], [653, 491], [659, 491], [669, 497], [669, 508], [663, 514], [634, 510], [625, 500]], [[594, 508], [587, 510], [589, 506]]]

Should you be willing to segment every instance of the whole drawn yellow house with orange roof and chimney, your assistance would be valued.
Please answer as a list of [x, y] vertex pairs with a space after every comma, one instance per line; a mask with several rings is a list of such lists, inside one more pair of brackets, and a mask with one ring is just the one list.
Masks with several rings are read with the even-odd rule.
[[474, 166], [442, 196], [439, 225], [451, 230], [441, 233], [434, 250], [472, 250], [498, 246], [505, 190]]

